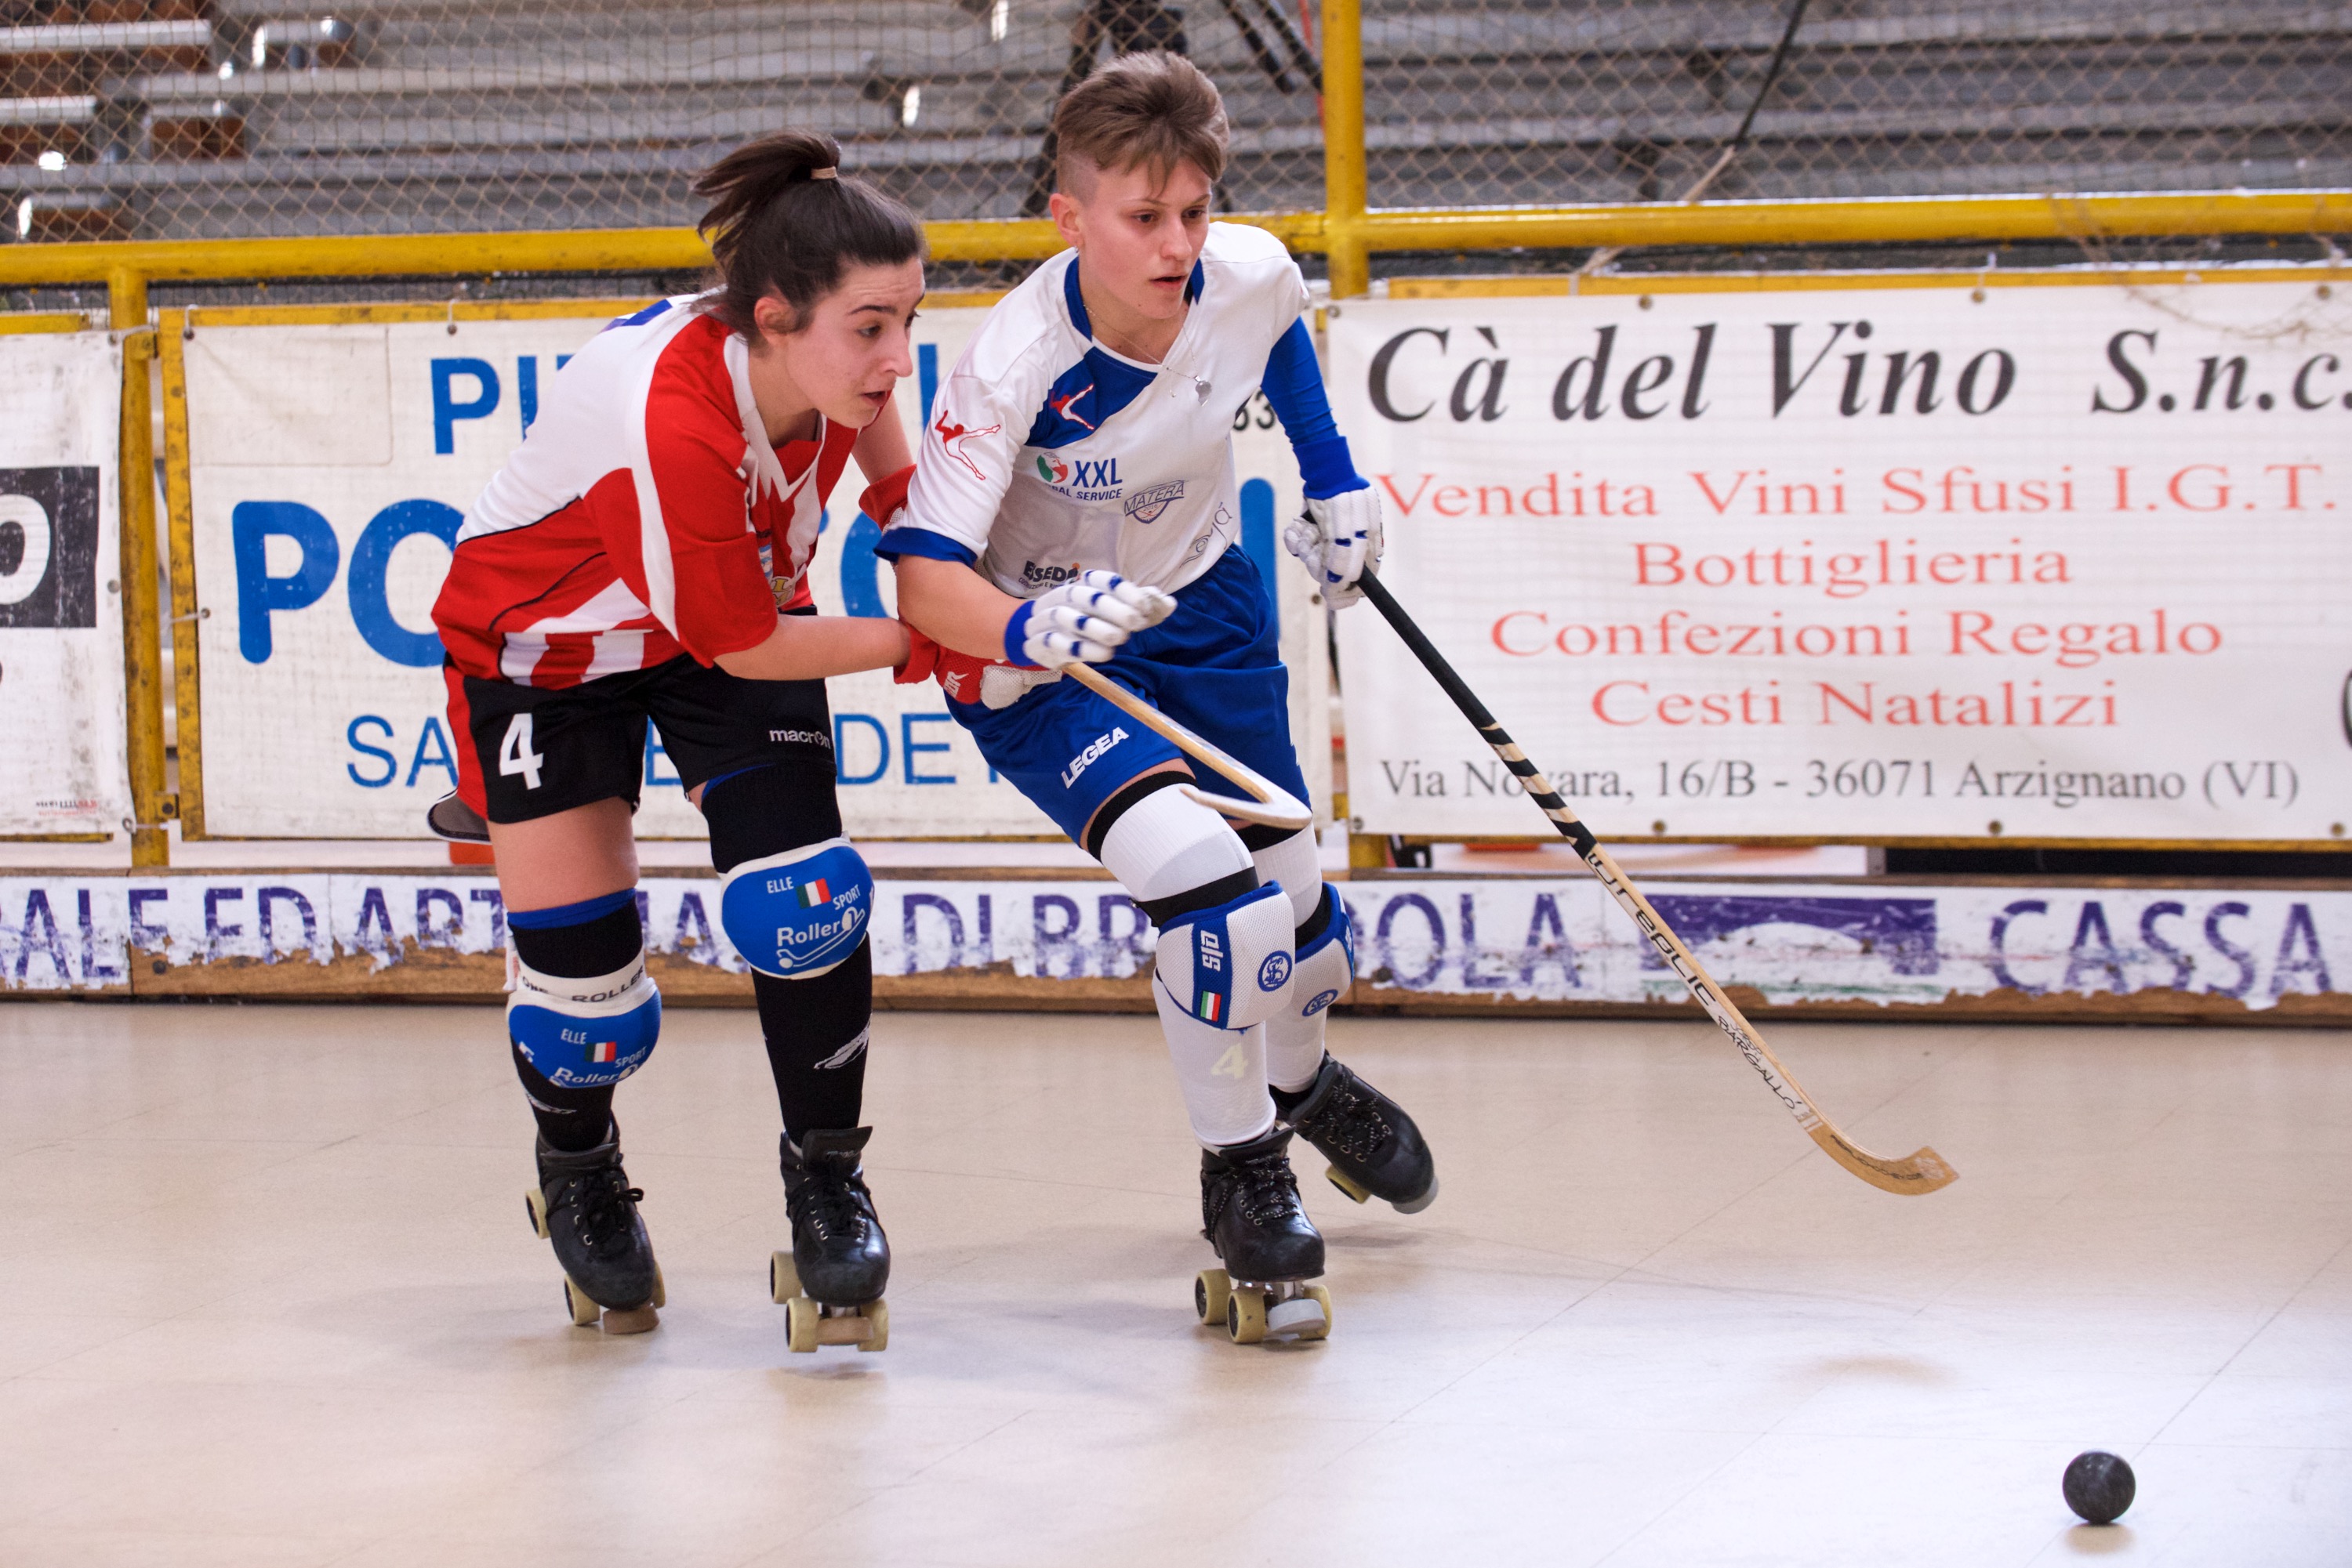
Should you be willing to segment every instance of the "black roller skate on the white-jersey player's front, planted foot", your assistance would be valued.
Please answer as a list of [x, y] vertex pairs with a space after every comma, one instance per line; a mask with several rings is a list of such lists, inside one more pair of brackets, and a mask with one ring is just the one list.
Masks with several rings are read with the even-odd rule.
[[1265, 1138], [1200, 1157], [1200, 1234], [1225, 1267], [1202, 1269], [1192, 1307], [1235, 1345], [1331, 1333], [1331, 1293], [1308, 1284], [1322, 1274], [1322, 1234], [1298, 1206], [1289, 1145], [1291, 1128], [1277, 1124]]

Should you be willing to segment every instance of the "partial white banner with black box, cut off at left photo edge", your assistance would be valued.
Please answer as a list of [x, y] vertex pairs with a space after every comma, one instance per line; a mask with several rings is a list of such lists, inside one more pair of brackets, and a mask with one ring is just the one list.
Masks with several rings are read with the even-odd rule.
[[0, 336], [0, 835], [122, 832], [122, 348]]

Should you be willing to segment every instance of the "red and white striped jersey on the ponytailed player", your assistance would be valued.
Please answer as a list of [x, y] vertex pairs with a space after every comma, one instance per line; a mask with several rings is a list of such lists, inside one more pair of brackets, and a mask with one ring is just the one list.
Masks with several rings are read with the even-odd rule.
[[564, 364], [456, 536], [433, 623], [480, 679], [576, 686], [715, 663], [809, 602], [816, 527], [858, 433], [769, 447], [750, 346], [694, 296], [621, 317]]

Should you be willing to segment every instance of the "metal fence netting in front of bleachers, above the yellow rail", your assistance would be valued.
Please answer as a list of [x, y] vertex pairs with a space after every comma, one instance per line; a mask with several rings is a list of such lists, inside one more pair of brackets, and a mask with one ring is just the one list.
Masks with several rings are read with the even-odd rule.
[[[2352, 183], [2352, 7], [1371, 0], [1376, 207]], [[687, 223], [783, 125], [931, 219], [1042, 212], [1058, 94], [1124, 47], [1225, 89], [1232, 209], [1315, 209], [1301, 0], [0, 0], [16, 240]]]

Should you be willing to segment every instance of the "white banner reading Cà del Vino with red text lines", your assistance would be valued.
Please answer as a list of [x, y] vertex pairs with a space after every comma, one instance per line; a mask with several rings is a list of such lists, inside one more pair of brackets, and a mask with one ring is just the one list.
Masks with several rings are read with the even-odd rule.
[[[1329, 376], [1383, 578], [1602, 837], [2331, 842], [2352, 292], [2265, 277], [1350, 301]], [[1338, 632], [1364, 830], [1541, 830]]]

